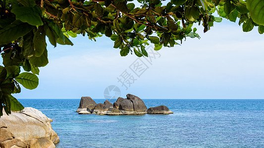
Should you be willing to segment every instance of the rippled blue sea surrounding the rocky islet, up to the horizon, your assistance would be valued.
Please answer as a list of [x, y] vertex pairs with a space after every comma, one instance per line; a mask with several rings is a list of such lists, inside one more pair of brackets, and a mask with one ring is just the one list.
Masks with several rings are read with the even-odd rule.
[[78, 114], [79, 99], [19, 101], [53, 119], [57, 148], [264, 148], [264, 100], [148, 99], [174, 113], [130, 116]]

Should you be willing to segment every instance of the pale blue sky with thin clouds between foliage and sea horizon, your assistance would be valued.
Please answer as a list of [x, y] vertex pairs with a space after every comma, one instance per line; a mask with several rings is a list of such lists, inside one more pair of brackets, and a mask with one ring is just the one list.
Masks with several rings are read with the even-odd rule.
[[149, 58], [121, 57], [108, 37], [78, 36], [70, 38], [73, 46], [55, 48], [49, 43], [49, 64], [40, 68], [38, 87], [22, 88], [14, 97], [107, 99], [130, 93], [142, 99], [264, 99], [264, 36], [257, 28], [244, 33], [226, 20], [205, 34], [197, 28], [201, 39], [188, 37], [159, 51], [151, 45]]

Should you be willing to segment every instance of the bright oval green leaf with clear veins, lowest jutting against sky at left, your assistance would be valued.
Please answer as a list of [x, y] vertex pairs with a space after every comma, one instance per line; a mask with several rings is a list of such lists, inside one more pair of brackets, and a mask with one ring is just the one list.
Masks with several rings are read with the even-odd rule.
[[32, 73], [21, 73], [15, 80], [27, 89], [35, 89], [39, 85], [38, 76]]

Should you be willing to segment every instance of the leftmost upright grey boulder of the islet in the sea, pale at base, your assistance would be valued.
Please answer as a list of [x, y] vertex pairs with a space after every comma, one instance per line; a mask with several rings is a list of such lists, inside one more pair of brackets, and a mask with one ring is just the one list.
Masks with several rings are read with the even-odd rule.
[[82, 97], [79, 108], [76, 112], [80, 111], [93, 111], [96, 106], [96, 102], [91, 97]]

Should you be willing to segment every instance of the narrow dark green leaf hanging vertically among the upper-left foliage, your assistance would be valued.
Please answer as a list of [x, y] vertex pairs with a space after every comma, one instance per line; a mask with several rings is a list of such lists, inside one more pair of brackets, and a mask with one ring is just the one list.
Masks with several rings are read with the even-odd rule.
[[38, 30], [35, 32], [34, 38], [34, 49], [35, 49], [35, 56], [40, 57], [47, 47], [46, 43], [46, 33], [43, 27], [39, 27]]

